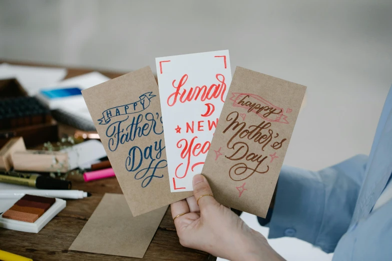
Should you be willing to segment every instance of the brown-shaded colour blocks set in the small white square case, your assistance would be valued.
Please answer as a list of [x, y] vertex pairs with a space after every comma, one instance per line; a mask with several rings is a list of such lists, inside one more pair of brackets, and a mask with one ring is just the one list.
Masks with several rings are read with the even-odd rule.
[[10, 209], [3, 213], [4, 218], [34, 223], [54, 203], [56, 198], [24, 195]]

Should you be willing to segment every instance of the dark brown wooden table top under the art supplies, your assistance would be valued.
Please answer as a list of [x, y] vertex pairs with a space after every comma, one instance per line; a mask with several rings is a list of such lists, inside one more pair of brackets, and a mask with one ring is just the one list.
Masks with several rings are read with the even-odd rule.
[[[7, 62], [37, 66], [37, 64], [32, 63]], [[67, 78], [90, 71], [92, 70], [69, 68]], [[123, 74], [102, 73], [111, 78]], [[84, 182], [81, 176], [75, 175], [70, 175], [68, 179], [72, 180], [73, 189], [88, 191], [93, 195], [84, 199], [67, 200], [66, 208], [42, 228], [39, 233], [0, 228], [0, 249], [34, 260], [140, 260], [140, 258], [68, 250], [103, 195], [106, 192], [122, 193], [115, 177], [92, 182]], [[216, 257], [203, 251], [183, 247], [180, 244], [169, 207], [143, 260], [216, 260]]]

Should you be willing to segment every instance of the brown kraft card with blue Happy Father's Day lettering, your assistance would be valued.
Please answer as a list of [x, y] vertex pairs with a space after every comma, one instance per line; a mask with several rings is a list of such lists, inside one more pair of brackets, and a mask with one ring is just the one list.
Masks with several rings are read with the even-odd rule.
[[158, 85], [150, 67], [82, 94], [134, 216], [192, 195], [170, 192]]

